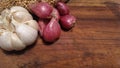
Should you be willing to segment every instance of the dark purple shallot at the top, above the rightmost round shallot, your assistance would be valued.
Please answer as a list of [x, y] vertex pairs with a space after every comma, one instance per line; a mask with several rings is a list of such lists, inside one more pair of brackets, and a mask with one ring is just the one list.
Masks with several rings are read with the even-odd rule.
[[56, 4], [56, 8], [58, 9], [61, 16], [68, 15], [70, 13], [69, 7], [63, 2], [58, 2]]

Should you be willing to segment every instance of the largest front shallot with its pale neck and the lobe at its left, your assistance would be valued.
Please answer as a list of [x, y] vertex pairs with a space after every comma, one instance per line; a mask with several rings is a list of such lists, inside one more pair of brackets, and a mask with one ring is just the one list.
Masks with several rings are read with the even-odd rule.
[[61, 34], [60, 24], [58, 23], [60, 19], [59, 12], [54, 8], [50, 16], [52, 17], [50, 21], [40, 19], [38, 22], [40, 35], [46, 42], [56, 41]]

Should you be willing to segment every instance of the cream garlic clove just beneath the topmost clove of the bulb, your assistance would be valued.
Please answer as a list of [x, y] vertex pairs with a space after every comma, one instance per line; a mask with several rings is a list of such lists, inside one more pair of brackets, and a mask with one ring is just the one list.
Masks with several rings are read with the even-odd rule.
[[19, 23], [29, 21], [29, 20], [33, 20], [32, 16], [29, 13], [26, 13], [26, 12], [13, 13], [13, 18]]

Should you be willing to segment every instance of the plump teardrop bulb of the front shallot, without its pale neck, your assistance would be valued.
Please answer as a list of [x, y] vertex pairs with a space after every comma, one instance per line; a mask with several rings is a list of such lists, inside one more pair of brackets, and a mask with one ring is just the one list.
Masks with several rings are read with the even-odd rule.
[[43, 39], [45, 42], [55, 42], [61, 35], [61, 28], [58, 21], [52, 18], [43, 31]]

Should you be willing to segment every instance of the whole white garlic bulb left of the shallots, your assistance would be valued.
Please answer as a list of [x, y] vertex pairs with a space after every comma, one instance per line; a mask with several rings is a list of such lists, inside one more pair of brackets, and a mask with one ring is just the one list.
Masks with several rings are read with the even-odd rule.
[[0, 15], [0, 47], [4, 50], [22, 50], [35, 42], [38, 24], [23, 7], [5, 9]]

